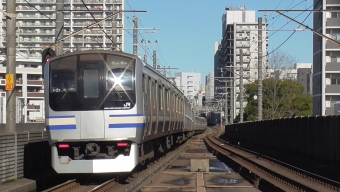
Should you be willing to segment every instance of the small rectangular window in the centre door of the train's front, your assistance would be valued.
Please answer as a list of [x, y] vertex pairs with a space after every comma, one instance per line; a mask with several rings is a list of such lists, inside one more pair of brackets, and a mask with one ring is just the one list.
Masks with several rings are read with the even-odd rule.
[[98, 69], [84, 69], [84, 98], [98, 98], [99, 71]]

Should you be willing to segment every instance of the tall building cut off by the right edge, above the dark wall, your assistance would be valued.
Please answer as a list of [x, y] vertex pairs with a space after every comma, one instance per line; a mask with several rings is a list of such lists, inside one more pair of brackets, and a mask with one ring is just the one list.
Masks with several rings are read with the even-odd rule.
[[[339, 0], [314, 0], [315, 10], [339, 10]], [[340, 12], [314, 13], [314, 30], [340, 42]], [[340, 46], [313, 35], [313, 115], [334, 114], [340, 102]]]

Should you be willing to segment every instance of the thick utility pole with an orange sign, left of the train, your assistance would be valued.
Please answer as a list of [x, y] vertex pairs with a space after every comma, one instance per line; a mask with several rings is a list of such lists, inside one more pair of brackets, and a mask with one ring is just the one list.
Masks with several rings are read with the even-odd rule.
[[16, 131], [16, 1], [6, 1], [6, 132]]

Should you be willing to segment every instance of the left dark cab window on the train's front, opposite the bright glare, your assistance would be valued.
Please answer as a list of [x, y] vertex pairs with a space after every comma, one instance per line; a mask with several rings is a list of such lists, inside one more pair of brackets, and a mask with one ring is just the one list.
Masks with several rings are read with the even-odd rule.
[[65, 57], [51, 62], [50, 92], [76, 92], [77, 57]]

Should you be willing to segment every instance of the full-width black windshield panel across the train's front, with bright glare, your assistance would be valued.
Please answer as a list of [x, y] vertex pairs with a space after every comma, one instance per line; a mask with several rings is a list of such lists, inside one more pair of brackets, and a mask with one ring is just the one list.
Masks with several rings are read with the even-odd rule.
[[135, 59], [84, 54], [53, 60], [49, 103], [54, 111], [131, 109], [136, 103]]

